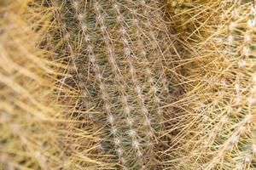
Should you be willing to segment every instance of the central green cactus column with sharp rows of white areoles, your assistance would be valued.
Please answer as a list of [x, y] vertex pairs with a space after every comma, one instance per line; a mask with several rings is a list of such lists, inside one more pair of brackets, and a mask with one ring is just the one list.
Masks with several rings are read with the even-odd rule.
[[[56, 94], [64, 94], [58, 100], [71, 99], [76, 116], [101, 128], [97, 151], [110, 156], [102, 168], [161, 166], [157, 147], [172, 41], [160, 3], [55, 0], [40, 5], [54, 13], [43, 46], [70, 75], [59, 77], [58, 87], [72, 90], [65, 94], [59, 88]], [[73, 91], [78, 94], [68, 94]]]

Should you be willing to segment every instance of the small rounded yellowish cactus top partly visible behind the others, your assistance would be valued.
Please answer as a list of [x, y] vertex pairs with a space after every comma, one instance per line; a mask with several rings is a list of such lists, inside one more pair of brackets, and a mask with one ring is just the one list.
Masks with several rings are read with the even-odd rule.
[[218, 8], [221, 1], [211, 0], [182, 0], [166, 1], [166, 8], [172, 17], [172, 24], [177, 34], [189, 42], [199, 40], [201, 36], [208, 32], [212, 20], [218, 20]]

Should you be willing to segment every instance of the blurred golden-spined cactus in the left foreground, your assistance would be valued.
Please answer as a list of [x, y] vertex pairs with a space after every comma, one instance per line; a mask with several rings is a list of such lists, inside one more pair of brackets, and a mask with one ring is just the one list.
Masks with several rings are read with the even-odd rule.
[[90, 169], [103, 164], [102, 155], [92, 156], [99, 129], [82, 129], [87, 121], [70, 115], [75, 109], [67, 104], [72, 100], [56, 99], [76, 93], [57, 83], [58, 77], [68, 76], [62, 72], [67, 65], [43, 49], [51, 26], [45, 9], [30, 0], [0, 3], [0, 169]]

